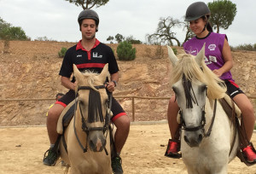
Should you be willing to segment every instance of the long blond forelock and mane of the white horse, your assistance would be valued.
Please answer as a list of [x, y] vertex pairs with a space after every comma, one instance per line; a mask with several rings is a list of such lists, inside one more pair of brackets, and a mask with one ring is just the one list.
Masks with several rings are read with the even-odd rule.
[[224, 84], [223, 81], [212, 73], [205, 63], [202, 64], [202, 67], [199, 67], [195, 61], [194, 55], [184, 54], [177, 61], [172, 70], [171, 84], [182, 80], [183, 76], [191, 82], [199, 81], [202, 84], [206, 84], [209, 99], [224, 97], [226, 91], [225, 85], [219, 85]]

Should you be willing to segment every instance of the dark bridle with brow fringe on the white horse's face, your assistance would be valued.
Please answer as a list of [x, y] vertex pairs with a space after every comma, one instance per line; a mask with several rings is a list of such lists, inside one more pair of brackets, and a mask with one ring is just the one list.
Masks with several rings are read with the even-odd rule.
[[[186, 107], [187, 108], [193, 108], [193, 103], [192, 102], [194, 102], [198, 106], [198, 102], [196, 100], [195, 92], [192, 88], [191, 81], [189, 81], [187, 78], [185, 78], [184, 75], [183, 75], [182, 81], [183, 81], [183, 89], [185, 91], [185, 96], [186, 96]], [[206, 93], [207, 93], [207, 90], [206, 90]], [[207, 133], [205, 131], [205, 125], [206, 125], [205, 106], [206, 106], [206, 104], [203, 107], [201, 107], [201, 123], [200, 123], [200, 125], [195, 126], [195, 127], [187, 127], [186, 126], [186, 123], [183, 120], [183, 110], [182, 109], [179, 110], [180, 124], [182, 125], [182, 129], [184, 131], [202, 130], [205, 137], [211, 135], [212, 126], [213, 126], [213, 123], [214, 123], [214, 120], [215, 120], [215, 115], [216, 115], [217, 99], [215, 99], [215, 101], [214, 101], [212, 121], [211, 121], [211, 125], [210, 125]]]

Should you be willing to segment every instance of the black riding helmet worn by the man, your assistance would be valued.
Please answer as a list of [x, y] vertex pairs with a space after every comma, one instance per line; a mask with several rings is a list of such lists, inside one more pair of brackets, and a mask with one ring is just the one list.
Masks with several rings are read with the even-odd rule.
[[[98, 26], [99, 26], [99, 22], [100, 22], [100, 19], [99, 19], [99, 15], [92, 9], [84, 9], [80, 14], [79, 14], [79, 18], [78, 18], [78, 21], [79, 21], [79, 27], [81, 26], [82, 24], [82, 21], [84, 19], [92, 19], [92, 20], [95, 20], [96, 22], [96, 32], [98, 32]], [[80, 28], [81, 30], [81, 28]]]

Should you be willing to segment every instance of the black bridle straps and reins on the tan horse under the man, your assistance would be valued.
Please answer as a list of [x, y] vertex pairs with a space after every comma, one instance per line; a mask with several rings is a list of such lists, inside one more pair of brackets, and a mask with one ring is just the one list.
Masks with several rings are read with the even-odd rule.
[[[94, 86], [94, 87], [97, 90], [106, 88], [105, 85], [99, 85], [99, 86]], [[73, 129], [74, 129], [75, 136], [76, 136], [76, 138], [79, 142], [79, 146], [80, 146], [80, 148], [83, 149], [83, 152], [85, 153], [88, 150], [88, 143], [87, 143], [88, 141], [86, 141], [86, 145], [84, 147], [82, 142], [79, 140], [79, 136], [77, 134], [76, 127], [75, 127], [76, 110], [77, 110], [77, 107], [78, 107], [77, 97], [79, 96], [79, 90], [90, 90], [90, 95], [92, 95], [91, 93], [95, 93], [94, 95], [99, 95], [99, 94], [96, 94], [96, 91], [94, 91], [90, 86], [79, 86], [78, 92], [76, 93], [76, 97], [75, 97]], [[90, 95], [89, 95], [89, 97], [92, 97]], [[91, 104], [95, 104], [95, 103], [91, 103]], [[103, 134], [105, 134], [107, 132], [106, 137], [108, 136], [108, 127], [109, 127], [109, 124], [110, 124], [111, 106], [112, 106], [112, 93], [108, 94], [108, 102], [107, 102], [107, 107], [106, 107], [106, 117], [105, 117], [104, 125], [102, 127], [91, 127], [91, 128], [89, 128], [86, 125], [86, 120], [84, 119], [84, 115], [82, 113], [81, 106], [80, 106], [80, 103], [79, 103], [79, 111], [80, 111], [81, 118], [82, 118], [82, 120], [81, 120], [82, 121], [82, 130], [86, 133], [87, 137], [88, 137], [90, 131], [103, 131]], [[101, 122], [103, 122], [103, 120], [102, 120], [103, 119], [102, 107], [98, 107], [98, 108], [100, 109], [100, 111], [99, 111], [100, 120], [101, 120]], [[106, 154], [108, 155], [108, 151], [107, 151], [106, 147], [104, 148], [104, 150], [105, 150]]]

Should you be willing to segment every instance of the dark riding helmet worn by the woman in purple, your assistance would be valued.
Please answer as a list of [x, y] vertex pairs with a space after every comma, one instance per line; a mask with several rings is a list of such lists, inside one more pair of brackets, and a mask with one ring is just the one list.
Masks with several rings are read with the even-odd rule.
[[191, 21], [191, 20], [197, 20], [201, 18], [202, 16], [207, 16], [207, 18], [210, 16], [211, 11], [208, 8], [206, 3], [203, 2], [196, 2], [189, 5], [185, 21]]

